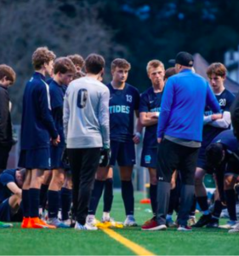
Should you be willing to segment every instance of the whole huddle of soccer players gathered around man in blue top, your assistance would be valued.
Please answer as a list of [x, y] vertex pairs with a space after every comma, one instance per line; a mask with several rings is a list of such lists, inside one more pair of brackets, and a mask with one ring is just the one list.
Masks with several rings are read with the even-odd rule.
[[[48, 48], [37, 48], [35, 72], [23, 96], [19, 168], [11, 170], [7, 162], [16, 142], [8, 88], [15, 73], [0, 65], [0, 228], [21, 222], [23, 229], [97, 230], [95, 213], [103, 194], [101, 221], [116, 227], [120, 223], [110, 214], [116, 164], [123, 225], [137, 226], [132, 177], [135, 145], [142, 139], [140, 166], [149, 171], [153, 212], [142, 230], [207, 226], [239, 232], [238, 101], [225, 89], [226, 68], [211, 64], [208, 83], [195, 73], [189, 53], [179, 52], [171, 63], [167, 70], [162, 61], [147, 63], [151, 87], [140, 95], [127, 83], [131, 66], [124, 59], [111, 62], [112, 79], [105, 85], [101, 55], [56, 58]], [[203, 183], [206, 173], [216, 183], [213, 210]], [[202, 211], [198, 221], [196, 202]], [[230, 220], [219, 226], [225, 207]]]

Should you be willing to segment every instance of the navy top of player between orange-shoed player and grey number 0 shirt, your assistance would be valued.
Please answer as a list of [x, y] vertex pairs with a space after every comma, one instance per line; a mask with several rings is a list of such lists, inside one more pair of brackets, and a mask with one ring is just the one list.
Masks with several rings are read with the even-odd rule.
[[49, 84], [52, 116], [54, 125], [60, 135], [58, 147], [65, 145], [65, 136], [63, 131], [63, 102], [65, 96], [65, 85], [57, 84], [54, 80]]

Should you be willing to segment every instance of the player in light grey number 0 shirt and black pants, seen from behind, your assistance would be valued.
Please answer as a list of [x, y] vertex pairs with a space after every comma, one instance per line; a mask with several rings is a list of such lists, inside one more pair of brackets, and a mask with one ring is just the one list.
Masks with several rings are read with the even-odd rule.
[[64, 131], [73, 182], [73, 212], [76, 230], [97, 230], [86, 223], [94, 177], [100, 163], [100, 148], [110, 148], [110, 92], [99, 79], [104, 73], [101, 55], [88, 55], [86, 77], [69, 84], [64, 101]]

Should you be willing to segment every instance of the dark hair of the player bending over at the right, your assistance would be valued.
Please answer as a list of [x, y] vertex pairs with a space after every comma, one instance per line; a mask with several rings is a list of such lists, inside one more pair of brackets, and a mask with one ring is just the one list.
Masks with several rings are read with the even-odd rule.
[[213, 143], [206, 148], [206, 161], [208, 166], [219, 166], [223, 160], [223, 145], [221, 143]]

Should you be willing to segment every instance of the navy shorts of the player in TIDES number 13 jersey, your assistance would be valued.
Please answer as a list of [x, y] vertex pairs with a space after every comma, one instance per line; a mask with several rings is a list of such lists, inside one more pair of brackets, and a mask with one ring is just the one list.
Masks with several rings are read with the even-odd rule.
[[135, 164], [135, 148], [134, 142], [120, 143], [111, 141], [111, 160], [110, 166], [134, 166]]

